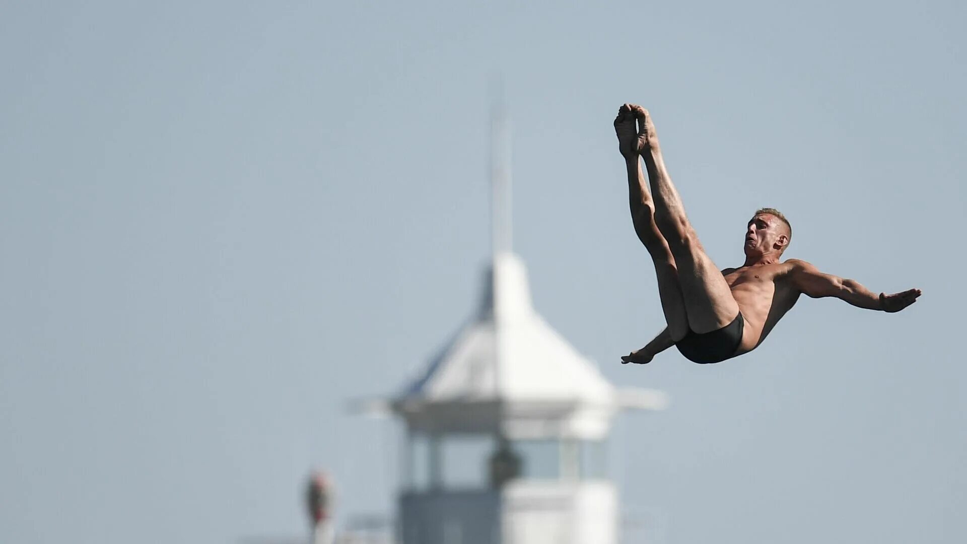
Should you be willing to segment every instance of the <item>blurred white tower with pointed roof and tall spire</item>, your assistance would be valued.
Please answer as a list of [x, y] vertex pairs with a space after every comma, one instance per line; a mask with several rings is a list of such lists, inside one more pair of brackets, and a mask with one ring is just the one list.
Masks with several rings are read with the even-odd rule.
[[493, 262], [476, 318], [393, 400], [406, 424], [403, 544], [616, 544], [604, 443], [622, 408], [665, 397], [616, 390], [531, 304], [511, 252], [509, 138], [494, 119]]

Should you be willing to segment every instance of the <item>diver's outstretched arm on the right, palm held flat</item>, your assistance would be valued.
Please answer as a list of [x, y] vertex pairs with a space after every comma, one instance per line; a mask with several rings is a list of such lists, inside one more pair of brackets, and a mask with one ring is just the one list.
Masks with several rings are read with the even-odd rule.
[[823, 274], [805, 260], [790, 258], [787, 262], [793, 265], [791, 274], [795, 286], [812, 298], [835, 296], [858, 308], [894, 313], [917, 302], [917, 297], [922, 294], [920, 289], [876, 294], [856, 280]]

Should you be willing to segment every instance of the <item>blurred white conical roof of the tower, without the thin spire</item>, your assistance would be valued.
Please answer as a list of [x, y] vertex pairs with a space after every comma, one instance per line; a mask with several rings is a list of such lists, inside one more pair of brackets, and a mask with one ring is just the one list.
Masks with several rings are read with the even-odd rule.
[[534, 311], [520, 258], [499, 253], [477, 317], [394, 407], [411, 428], [516, 438], [602, 438], [619, 408], [663, 399], [616, 392], [598, 368]]

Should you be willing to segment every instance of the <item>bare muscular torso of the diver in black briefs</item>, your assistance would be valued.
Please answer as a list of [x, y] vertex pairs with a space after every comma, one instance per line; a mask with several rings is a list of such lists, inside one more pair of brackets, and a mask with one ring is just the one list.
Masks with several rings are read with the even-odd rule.
[[732, 296], [739, 304], [739, 311], [746, 319], [742, 344], [736, 354], [757, 347], [778, 320], [799, 299], [801, 291], [793, 286], [789, 272], [790, 261], [776, 264], [756, 264], [722, 271], [725, 282], [732, 289]]

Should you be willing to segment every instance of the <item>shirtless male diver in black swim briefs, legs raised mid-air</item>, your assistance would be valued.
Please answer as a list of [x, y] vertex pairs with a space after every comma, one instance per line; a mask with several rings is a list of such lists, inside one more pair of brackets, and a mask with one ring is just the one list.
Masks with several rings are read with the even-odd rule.
[[[921, 295], [920, 289], [877, 295], [853, 280], [824, 274], [805, 260], [780, 262], [792, 228], [772, 208], [758, 210], [748, 222], [746, 262], [719, 271], [685, 215], [648, 110], [621, 106], [614, 129], [628, 166], [631, 221], [655, 261], [668, 325], [648, 346], [622, 357], [623, 363], [648, 363], [672, 346], [696, 363], [742, 355], [762, 344], [803, 293], [813, 298], [835, 296], [853, 306], [884, 312], [899, 312]], [[639, 156], [648, 171], [647, 183]]]

